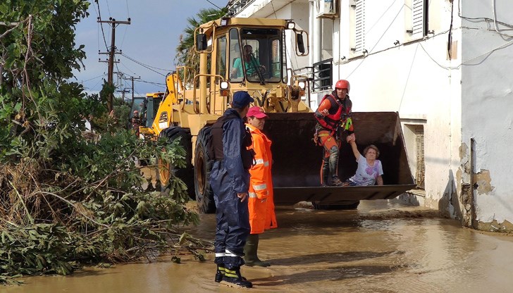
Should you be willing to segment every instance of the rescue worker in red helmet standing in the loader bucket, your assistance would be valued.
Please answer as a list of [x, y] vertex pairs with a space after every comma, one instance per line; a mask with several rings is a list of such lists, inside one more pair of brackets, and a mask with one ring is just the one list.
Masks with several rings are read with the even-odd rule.
[[324, 149], [321, 186], [328, 186], [328, 173], [331, 175], [331, 185], [342, 186], [342, 180], [338, 177], [338, 156], [342, 134], [347, 131], [347, 139], [355, 139], [349, 91], [349, 82], [339, 80], [335, 84], [335, 90], [323, 96], [319, 108], [315, 111], [317, 125], [314, 140]]

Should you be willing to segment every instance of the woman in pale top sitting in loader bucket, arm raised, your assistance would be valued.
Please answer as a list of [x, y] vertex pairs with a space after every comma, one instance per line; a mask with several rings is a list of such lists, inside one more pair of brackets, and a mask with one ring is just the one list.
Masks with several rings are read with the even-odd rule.
[[342, 186], [369, 186], [383, 185], [383, 166], [381, 161], [377, 160], [379, 156], [378, 147], [371, 144], [364, 149], [362, 156], [357, 149], [357, 143], [354, 138], [347, 137], [347, 142], [351, 144], [354, 157], [357, 159], [358, 168], [354, 176], [346, 180]]

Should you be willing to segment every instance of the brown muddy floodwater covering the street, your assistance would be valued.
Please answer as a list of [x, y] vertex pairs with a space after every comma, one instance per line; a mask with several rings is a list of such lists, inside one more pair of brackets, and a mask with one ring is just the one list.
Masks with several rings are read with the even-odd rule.
[[[214, 282], [208, 254], [23, 278], [0, 292], [513, 292], [513, 237], [464, 229], [426, 208], [362, 201], [357, 211], [278, 207], [277, 216], [259, 246], [272, 266], [242, 268], [252, 289]], [[213, 239], [214, 215], [201, 218], [191, 232]]]

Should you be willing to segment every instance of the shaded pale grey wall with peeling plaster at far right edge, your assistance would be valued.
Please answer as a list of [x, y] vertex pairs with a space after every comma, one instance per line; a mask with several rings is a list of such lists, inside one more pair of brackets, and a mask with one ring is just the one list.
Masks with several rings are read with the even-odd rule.
[[[493, 5], [495, 4], [495, 9]], [[470, 158], [478, 185], [474, 190], [476, 219], [502, 229], [513, 223], [513, 173], [510, 158], [513, 145], [513, 2], [509, 0], [464, 1], [462, 144]], [[472, 19], [471, 19], [472, 18]], [[488, 18], [486, 20], [485, 18]], [[509, 26], [494, 23], [495, 20]], [[497, 31], [495, 30], [497, 29]]]

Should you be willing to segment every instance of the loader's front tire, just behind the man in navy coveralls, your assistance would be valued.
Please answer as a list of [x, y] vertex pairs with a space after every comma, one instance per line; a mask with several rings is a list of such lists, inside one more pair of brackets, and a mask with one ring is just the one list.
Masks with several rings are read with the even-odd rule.
[[194, 151], [194, 190], [199, 213], [215, 213], [214, 192], [210, 186], [210, 173], [214, 160], [208, 149], [211, 127], [199, 130]]

